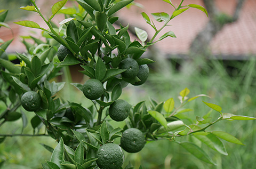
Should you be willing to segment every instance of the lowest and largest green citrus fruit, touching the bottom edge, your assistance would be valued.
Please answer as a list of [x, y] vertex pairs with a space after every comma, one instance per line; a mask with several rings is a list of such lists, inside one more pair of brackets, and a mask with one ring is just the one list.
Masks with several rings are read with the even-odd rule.
[[97, 165], [102, 169], [119, 169], [124, 163], [124, 152], [114, 143], [103, 144], [96, 153]]

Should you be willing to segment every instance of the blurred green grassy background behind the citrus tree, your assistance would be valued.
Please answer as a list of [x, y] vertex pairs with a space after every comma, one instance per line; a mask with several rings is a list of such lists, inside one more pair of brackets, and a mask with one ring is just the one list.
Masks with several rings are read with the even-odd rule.
[[[29, 5], [29, 0], [19, 1], [20, 4]], [[9, 11], [24, 12], [17, 10], [21, 5], [16, 0], [2, 0], [2, 9], [9, 8]], [[19, 6], [17, 6], [19, 5]], [[10, 12], [11, 13], [11, 12]], [[17, 16], [24, 13], [9, 15], [7, 20], [15, 20]], [[20, 17], [19, 17], [20, 18]], [[205, 106], [202, 100], [218, 104], [223, 112], [230, 112], [236, 115], [256, 117], [256, 68], [255, 55], [251, 55], [248, 60], [228, 61], [228, 60], [206, 60], [204, 57], [197, 57], [194, 60], [165, 59], [155, 55], [153, 60], [156, 63], [150, 66], [150, 76], [148, 81], [142, 86], [127, 86], [121, 96], [131, 104], [146, 100], [149, 105], [149, 97], [158, 102], [174, 98], [175, 103], [179, 104], [177, 96], [185, 87], [190, 90], [189, 96], [197, 94], [207, 94], [209, 98], [199, 98], [189, 103], [186, 108], [194, 111], [185, 112], [191, 117], [204, 116], [210, 108]], [[162, 58], [162, 59], [161, 59]], [[59, 94], [73, 102], [82, 103], [89, 106], [90, 102], [78, 92], [75, 87], [68, 87]], [[67, 90], [71, 90], [67, 92]], [[0, 102], [0, 109], [6, 109]], [[26, 112], [28, 121], [33, 114]], [[194, 119], [196, 120], [196, 119]], [[116, 122], [114, 125], [119, 125]], [[122, 124], [123, 125], [123, 124]], [[0, 134], [20, 133], [22, 120], [8, 122], [0, 127]], [[236, 136], [245, 146], [224, 142], [228, 156], [215, 154], [209, 150], [207, 153], [218, 164], [213, 166], [201, 162], [178, 144], [167, 140], [159, 140], [147, 143], [145, 148], [136, 154], [125, 154], [125, 165], [129, 162], [134, 168], [256, 168], [254, 160], [256, 154], [256, 122], [251, 121], [231, 121], [221, 122], [213, 125], [209, 130], [226, 131]], [[29, 124], [24, 133], [33, 134], [33, 129]], [[44, 133], [44, 130], [41, 131]], [[186, 139], [191, 139], [187, 137]], [[26, 137], [15, 136], [7, 137], [0, 144], [0, 160], [6, 160], [2, 168], [41, 168], [41, 162], [49, 160], [51, 153], [40, 143], [55, 147], [57, 142], [45, 136]], [[204, 145], [202, 145], [204, 146]], [[207, 150], [207, 148], [206, 148]], [[1, 161], [0, 161], [1, 164]]]

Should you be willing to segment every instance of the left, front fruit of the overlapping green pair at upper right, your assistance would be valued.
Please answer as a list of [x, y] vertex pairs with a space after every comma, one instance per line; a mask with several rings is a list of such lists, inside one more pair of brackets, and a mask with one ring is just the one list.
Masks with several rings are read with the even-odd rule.
[[136, 77], [137, 74], [139, 73], [139, 65], [137, 61], [135, 61], [132, 58], [122, 60], [119, 64], [119, 68], [126, 69], [126, 71], [122, 73], [122, 76], [125, 78]]

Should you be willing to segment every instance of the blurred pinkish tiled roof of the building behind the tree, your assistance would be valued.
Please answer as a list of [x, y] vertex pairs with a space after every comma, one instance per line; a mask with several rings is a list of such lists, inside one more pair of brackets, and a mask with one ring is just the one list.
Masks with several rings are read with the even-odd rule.
[[[57, 1], [37, 1], [38, 6], [41, 5], [52, 5]], [[141, 4], [141, 6], [131, 6], [129, 9], [123, 9], [117, 13], [121, 22], [129, 23], [131, 27], [139, 27], [145, 29], [149, 35], [149, 38], [154, 35], [154, 29], [149, 26], [146, 21], [142, 18], [141, 12], [146, 12], [150, 19], [154, 20], [150, 16], [150, 13], [154, 12], [166, 12], [171, 14], [173, 12], [173, 7], [161, 0], [135, 0], [134, 2]], [[172, 3], [178, 4], [180, 0], [172, 0]], [[215, 0], [218, 9], [229, 15], [233, 14], [236, 1], [235, 0]], [[183, 5], [187, 4], [199, 4], [204, 6], [202, 0], [194, 0], [193, 2], [185, 0]], [[245, 0], [242, 11], [239, 18], [234, 23], [229, 23], [221, 29], [218, 34], [212, 39], [210, 43], [210, 49], [212, 54], [219, 58], [224, 59], [246, 59], [251, 55], [256, 54], [256, 1], [255, 0]], [[43, 7], [41, 7], [43, 9]], [[46, 10], [46, 9], [45, 9]], [[47, 11], [44, 13], [47, 14]], [[51, 11], [48, 11], [51, 12]], [[50, 13], [49, 13], [50, 14]], [[57, 22], [61, 19], [54, 18]], [[40, 26], [47, 28], [45, 23], [41, 18], [39, 18], [35, 13], [31, 15], [26, 20], [33, 20], [39, 23]], [[175, 17], [170, 25], [163, 29], [159, 36], [163, 35], [167, 31], [172, 30], [177, 38], [167, 37], [163, 41], [158, 42], [156, 45], [158, 49], [161, 50], [166, 57], [182, 57], [189, 52], [189, 47], [191, 42], [193, 42], [196, 35], [201, 31], [206, 25], [209, 18], [197, 9], [190, 8], [189, 10], [183, 12], [178, 17]], [[124, 24], [125, 24], [124, 23]], [[160, 28], [163, 22], [154, 21], [155, 25]], [[20, 43], [19, 35], [27, 35], [29, 31], [33, 30], [39, 33], [36, 29], [30, 29], [22, 26], [9, 23], [15, 36], [14, 42], [8, 48], [7, 52], [22, 52], [25, 47]], [[40, 35], [39, 35], [40, 36]], [[158, 36], [158, 37], [159, 37]], [[0, 38], [7, 41], [7, 39], [12, 38], [12, 33], [6, 28], [0, 29]], [[157, 38], [156, 38], [157, 39]]]

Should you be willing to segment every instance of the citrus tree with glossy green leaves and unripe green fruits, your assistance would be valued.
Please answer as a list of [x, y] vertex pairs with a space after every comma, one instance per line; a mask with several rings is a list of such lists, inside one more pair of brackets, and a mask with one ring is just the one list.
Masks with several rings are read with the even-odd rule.
[[[154, 62], [148, 58], [141, 58], [147, 47], [166, 37], [176, 37], [172, 31], [168, 31], [156, 40], [161, 30], [174, 17], [190, 7], [207, 14], [202, 6], [182, 6], [182, 0], [177, 7], [171, 1], [165, 1], [174, 7], [174, 12], [151, 14], [154, 21], [163, 22], [162, 28], [159, 29], [146, 13], [141, 13], [155, 30], [155, 34], [148, 39], [145, 30], [135, 28], [140, 41], [131, 42], [129, 26], [121, 24], [116, 28], [113, 25], [118, 20], [114, 14], [132, 4], [133, 0], [76, 2], [78, 5], [70, 9], [62, 8], [67, 0], [55, 3], [49, 20], [44, 18], [35, 1], [31, 0], [31, 6], [21, 7], [22, 10], [41, 15], [49, 29], [46, 30], [33, 21], [16, 22], [18, 25], [43, 30], [42, 35], [46, 38], [44, 42], [31, 36], [36, 45], [24, 39], [23, 44], [27, 47], [27, 53], [17, 53], [19, 65], [6, 60], [4, 53], [12, 40], [2, 42], [0, 46], [0, 99], [6, 105], [7, 102], [11, 103], [9, 108], [1, 113], [1, 123], [22, 118], [22, 127], [25, 127], [26, 115], [20, 112], [23, 112], [23, 109], [35, 112], [31, 120], [33, 128], [39, 132], [40, 128], [45, 126], [47, 135], [59, 142], [54, 150], [47, 147], [52, 156], [42, 164], [43, 168], [120, 168], [124, 162], [124, 154], [121, 147], [113, 143], [116, 138], [121, 138], [121, 146], [127, 152], [140, 151], [147, 141], [157, 141], [159, 138], [171, 140], [210, 164], [215, 162], [205, 149], [198, 147], [193, 141], [177, 141], [176, 138], [182, 140], [189, 135], [223, 155], [227, 155], [227, 152], [221, 139], [243, 144], [233, 135], [222, 131], [208, 131], [207, 128], [221, 120], [255, 118], [225, 114], [221, 112], [220, 106], [204, 102], [209, 109], [217, 111], [219, 117], [214, 119], [210, 111], [203, 117], [189, 119], [183, 113], [191, 109], [181, 108], [188, 102], [207, 95], [199, 94], [189, 98], [188, 88], [180, 92], [180, 103], [175, 103], [174, 99], [170, 98], [161, 103], [152, 99], [150, 106], [145, 102], [131, 105], [119, 99], [123, 88], [129, 83], [141, 85], [147, 81], [148, 65]], [[0, 22], [4, 21], [6, 13], [0, 13]], [[59, 23], [57, 31], [51, 20], [58, 13], [64, 13], [66, 19]], [[56, 97], [65, 83], [56, 83], [54, 78], [60, 75], [62, 68], [68, 70], [68, 66], [71, 65], [80, 65], [83, 68], [81, 73], [90, 78], [84, 85], [73, 85], [84, 93], [84, 99], [92, 101], [92, 107], [85, 108], [80, 103]], [[7, 92], [3, 92], [5, 90]], [[126, 126], [114, 128], [108, 119], [116, 122], [125, 120]], [[126, 130], [123, 131], [123, 128]], [[4, 138], [0, 138], [0, 141], [3, 142]]]

